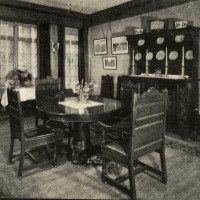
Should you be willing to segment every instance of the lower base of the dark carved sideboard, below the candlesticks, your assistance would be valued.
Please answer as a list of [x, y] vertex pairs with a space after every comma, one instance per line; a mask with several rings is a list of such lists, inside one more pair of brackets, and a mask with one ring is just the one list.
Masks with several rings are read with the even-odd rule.
[[121, 98], [124, 88], [142, 94], [149, 87], [168, 90], [167, 131], [177, 133], [182, 138], [192, 137], [195, 125], [194, 110], [198, 102], [197, 82], [175, 77], [119, 76], [117, 98]]

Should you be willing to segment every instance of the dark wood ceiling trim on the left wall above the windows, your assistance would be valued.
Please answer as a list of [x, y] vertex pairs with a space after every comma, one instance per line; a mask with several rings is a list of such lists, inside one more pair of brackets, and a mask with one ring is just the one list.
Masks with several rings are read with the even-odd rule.
[[88, 15], [19, 1], [0, 0], [0, 19], [21, 23], [63, 24], [81, 28]]

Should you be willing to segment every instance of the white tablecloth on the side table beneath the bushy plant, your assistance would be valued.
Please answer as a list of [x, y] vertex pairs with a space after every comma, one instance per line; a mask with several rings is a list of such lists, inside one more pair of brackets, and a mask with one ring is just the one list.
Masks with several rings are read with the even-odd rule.
[[[20, 93], [21, 101], [28, 101], [35, 99], [35, 86], [15, 88]], [[5, 107], [8, 105], [7, 89], [2, 95], [1, 104]]]

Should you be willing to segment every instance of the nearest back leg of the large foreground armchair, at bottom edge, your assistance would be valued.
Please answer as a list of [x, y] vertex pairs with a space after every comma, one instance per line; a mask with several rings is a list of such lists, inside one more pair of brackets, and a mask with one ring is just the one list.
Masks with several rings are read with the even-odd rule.
[[129, 166], [128, 166], [128, 173], [129, 173], [129, 183], [130, 183], [130, 196], [131, 196], [131, 200], [137, 200], [137, 197], [136, 197], [134, 164], [129, 164]]

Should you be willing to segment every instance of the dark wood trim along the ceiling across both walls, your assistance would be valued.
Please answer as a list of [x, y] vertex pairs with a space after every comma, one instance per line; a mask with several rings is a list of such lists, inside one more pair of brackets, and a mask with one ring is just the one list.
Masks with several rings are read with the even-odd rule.
[[49, 22], [83, 28], [121, 20], [197, 0], [134, 0], [91, 15], [29, 2], [0, 0], [0, 19], [22, 23]]

